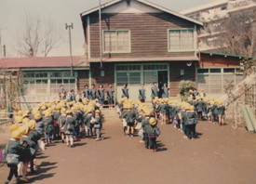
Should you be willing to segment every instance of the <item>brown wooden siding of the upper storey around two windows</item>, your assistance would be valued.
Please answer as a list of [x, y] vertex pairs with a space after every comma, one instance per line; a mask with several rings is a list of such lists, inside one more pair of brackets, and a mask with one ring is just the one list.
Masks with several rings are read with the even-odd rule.
[[[131, 53], [103, 54], [103, 58], [194, 56], [194, 52], [168, 52], [168, 29], [195, 24], [168, 13], [102, 14], [102, 30], [130, 30]], [[100, 58], [99, 14], [90, 15], [90, 56]]]

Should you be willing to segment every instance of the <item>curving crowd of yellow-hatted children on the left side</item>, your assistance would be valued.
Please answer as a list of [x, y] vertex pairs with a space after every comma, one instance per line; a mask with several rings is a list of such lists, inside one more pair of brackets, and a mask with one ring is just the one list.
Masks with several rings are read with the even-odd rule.
[[[101, 140], [101, 111], [98, 99], [83, 99], [82, 102], [67, 99], [42, 102], [31, 112], [18, 111], [15, 124], [11, 125], [11, 138], [7, 141], [3, 161], [10, 168], [9, 176], [5, 184], [9, 183], [13, 176], [17, 182], [29, 182], [27, 168], [32, 172], [35, 168], [35, 154], [39, 150], [41, 138], [46, 138], [47, 144], [54, 144], [52, 139], [61, 137], [62, 143], [74, 148], [74, 139], [79, 134], [86, 132], [88, 139]], [[14, 108], [16, 109], [16, 108]], [[17, 110], [17, 109], [16, 109]], [[61, 135], [60, 135], [61, 133]], [[19, 164], [12, 158], [18, 158]]]

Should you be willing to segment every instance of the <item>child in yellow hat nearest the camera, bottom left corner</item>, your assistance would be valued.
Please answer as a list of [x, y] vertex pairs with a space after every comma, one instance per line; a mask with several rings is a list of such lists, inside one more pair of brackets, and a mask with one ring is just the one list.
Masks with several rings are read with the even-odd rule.
[[17, 156], [20, 156], [23, 154], [23, 152], [26, 151], [26, 143], [23, 143], [20, 145], [20, 138], [22, 138], [22, 134], [19, 130], [16, 128], [20, 126], [13, 126], [12, 132], [11, 132], [11, 138], [7, 141], [7, 146], [5, 148], [4, 154], [3, 154], [3, 163], [7, 163], [7, 166], [10, 168], [9, 175], [7, 177], [7, 180], [5, 184], [8, 184], [13, 176], [16, 177], [16, 182], [20, 182], [20, 177], [18, 176], [18, 166], [15, 164], [8, 164], [7, 161], [7, 154], [16, 154]]

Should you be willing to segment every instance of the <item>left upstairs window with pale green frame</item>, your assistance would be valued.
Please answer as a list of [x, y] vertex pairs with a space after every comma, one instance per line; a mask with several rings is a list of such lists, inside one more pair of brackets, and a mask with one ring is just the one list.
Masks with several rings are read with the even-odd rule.
[[130, 32], [129, 31], [103, 31], [104, 53], [129, 53]]

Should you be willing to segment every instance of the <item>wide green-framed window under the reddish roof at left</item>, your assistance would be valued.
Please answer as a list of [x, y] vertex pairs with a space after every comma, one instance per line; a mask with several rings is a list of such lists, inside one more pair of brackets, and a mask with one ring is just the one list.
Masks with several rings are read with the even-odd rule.
[[22, 81], [24, 95], [57, 95], [61, 85], [64, 85], [67, 92], [74, 89], [76, 93], [76, 77], [77, 72], [74, 72], [74, 76], [71, 76], [70, 71], [23, 72]]

